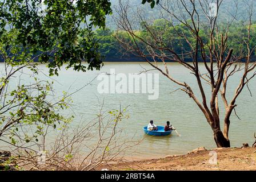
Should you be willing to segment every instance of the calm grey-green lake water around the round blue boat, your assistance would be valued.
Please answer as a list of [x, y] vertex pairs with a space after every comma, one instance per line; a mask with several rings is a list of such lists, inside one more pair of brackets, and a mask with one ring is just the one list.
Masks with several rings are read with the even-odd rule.
[[[199, 96], [193, 75], [185, 71], [179, 64], [169, 63], [168, 66], [173, 77], [180, 81], [186, 81], [191, 85], [195, 94]], [[3, 68], [3, 65], [1, 67]], [[58, 77], [52, 77], [55, 80], [54, 89], [57, 93], [62, 91], [73, 92], [90, 82], [99, 73], [109, 73], [110, 69], [115, 69], [116, 74], [125, 73], [128, 75], [129, 73], [143, 71], [142, 67], [152, 69], [146, 63], [105, 63], [101, 71], [88, 71], [86, 73], [75, 72], [72, 69], [62, 69]], [[201, 64], [200, 67], [203, 68], [203, 65]], [[44, 65], [39, 68], [47, 74], [47, 68]], [[158, 72], [151, 71], [149, 73]], [[39, 77], [46, 80], [52, 79], [42, 73], [39, 73]], [[76, 125], [81, 119], [89, 122], [95, 118], [99, 111], [99, 104], [102, 104], [104, 100], [103, 109], [106, 111], [119, 109], [120, 104], [122, 107], [129, 106], [127, 113], [129, 113], [130, 118], [123, 120], [119, 123], [119, 126], [125, 129], [127, 138], [134, 135], [135, 139], [144, 138], [141, 144], [133, 148], [132, 154], [129, 154], [131, 158], [155, 158], [186, 154], [187, 151], [201, 146], [208, 149], [215, 148], [213, 133], [198, 106], [182, 91], [173, 92], [179, 87], [161, 74], [159, 74], [159, 98], [157, 100], [148, 100], [149, 94], [99, 94], [97, 91], [98, 82], [98, 80], [94, 80], [91, 85], [86, 86], [86, 88], [72, 96], [73, 106], [65, 113], [75, 116], [72, 125]], [[239, 75], [231, 78], [229, 82], [230, 89], [228, 89], [227, 94], [229, 98], [233, 96], [238, 82]], [[208, 90], [206, 94], [208, 93], [207, 99], [209, 100], [210, 89], [207, 85], [205, 87]], [[241, 147], [242, 143], [251, 145], [254, 142], [253, 134], [256, 132], [256, 80], [250, 82], [250, 89], [253, 97], [245, 88], [237, 100], [237, 114], [241, 121], [234, 114], [231, 117], [229, 138], [233, 147]], [[223, 116], [224, 110], [221, 100], [220, 103]], [[181, 137], [178, 137], [175, 132], [168, 137], [146, 136], [142, 127], [146, 126], [150, 119], [154, 120], [155, 125], [165, 125], [166, 121], [170, 121], [181, 134]]]

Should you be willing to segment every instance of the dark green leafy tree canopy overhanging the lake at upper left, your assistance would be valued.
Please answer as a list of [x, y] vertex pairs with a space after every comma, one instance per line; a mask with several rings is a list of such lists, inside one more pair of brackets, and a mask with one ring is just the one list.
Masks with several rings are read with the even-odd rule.
[[76, 71], [99, 69], [102, 60], [92, 31], [105, 27], [110, 5], [109, 0], [2, 0], [0, 38], [15, 31], [21, 53], [32, 53], [33, 60], [49, 63], [50, 75], [58, 74], [63, 64]]

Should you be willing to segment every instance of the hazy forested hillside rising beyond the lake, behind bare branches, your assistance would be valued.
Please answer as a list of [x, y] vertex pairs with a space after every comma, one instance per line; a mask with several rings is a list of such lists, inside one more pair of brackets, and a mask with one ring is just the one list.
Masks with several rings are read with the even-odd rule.
[[[251, 1], [256, 0], [245, 0], [245, 1], [237, 1], [237, 0], [223, 0], [222, 5], [219, 10], [218, 14], [218, 24], [221, 26], [225, 26], [227, 22], [230, 22], [231, 19], [233, 19], [234, 15], [236, 15], [236, 18], [234, 19], [233, 25], [230, 27], [229, 30], [229, 46], [234, 49], [234, 55], [241, 54], [241, 52], [246, 51], [246, 45], [243, 44], [243, 40], [247, 39], [247, 28], [245, 26], [245, 20], [249, 19], [248, 9], [246, 4], [250, 3]], [[142, 0], [121, 0], [122, 3], [129, 3], [129, 6], [131, 7], [132, 11], [128, 11], [127, 14], [130, 16], [130, 19], [132, 17], [135, 17], [135, 13], [141, 13], [145, 16], [145, 21], [149, 24], [151, 24], [151, 28], [155, 31], [159, 30], [166, 30], [166, 33], [164, 34], [166, 45], [173, 48], [178, 53], [182, 53], [182, 49], [189, 49], [189, 45], [187, 45], [186, 40], [181, 40], [173, 37], [174, 34], [174, 28], [168, 27], [168, 23], [165, 22], [163, 19], [163, 14], [161, 12], [161, 8], [159, 5], [155, 5], [153, 9], [150, 7], [150, 3], [146, 3], [145, 5], [142, 5]], [[160, 3], [163, 3], [163, 5], [167, 2], [167, 0], [160, 0]], [[173, 2], [175, 7], [175, 0], [168, 0], [169, 3]], [[199, 1], [198, 1], [199, 2]], [[212, 1], [209, 1], [209, 3]], [[134, 56], [130, 52], [124, 51], [122, 47], [119, 45], [118, 41], [114, 38], [114, 36], [122, 36], [122, 39], [128, 39], [126, 34], [122, 34], [122, 32], [117, 33], [117, 27], [115, 25], [115, 21], [113, 17], [117, 17], [117, 9], [119, 8], [119, 0], [111, 0], [111, 7], [113, 9], [113, 14], [111, 16], [108, 16], [107, 18], [107, 30], [96, 30], [95, 31], [95, 38], [99, 42], [99, 49], [101, 54], [105, 57], [105, 61], [138, 61], [138, 57]], [[191, 3], [188, 1], [187, 5], [191, 6]], [[139, 11], [137, 11], [139, 9]], [[177, 9], [177, 14], [178, 13]], [[186, 10], [182, 10], [186, 11]], [[198, 4], [197, 6], [198, 14], [201, 14], [201, 17], [205, 17], [203, 15], [202, 7]], [[145, 14], [144, 14], [145, 13]], [[252, 18], [252, 31], [251, 34], [253, 36], [250, 46], [256, 46], [256, 7], [253, 7], [253, 16]], [[168, 19], [168, 18], [167, 18]], [[141, 27], [139, 21], [133, 22], [134, 29], [137, 30], [138, 34], [143, 34], [145, 30]], [[189, 34], [188, 30], [184, 30], [182, 26], [179, 26], [179, 23], [177, 22], [177, 27], [181, 31], [187, 31], [187, 34]], [[207, 39], [206, 32], [201, 32], [203, 37], [205, 37], [205, 41], [209, 41]], [[118, 35], [117, 35], [118, 34]], [[174, 45], [174, 46], [173, 46]], [[252, 54], [255, 55], [255, 51]]]

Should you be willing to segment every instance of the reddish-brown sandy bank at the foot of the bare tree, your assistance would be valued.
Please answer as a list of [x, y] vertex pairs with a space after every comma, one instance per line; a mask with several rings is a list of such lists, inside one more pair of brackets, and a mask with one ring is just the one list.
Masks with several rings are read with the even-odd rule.
[[[217, 163], [210, 164], [210, 151], [217, 154]], [[211, 158], [212, 159], [212, 158]], [[99, 168], [109, 170], [255, 170], [256, 148], [215, 148], [194, 150], [186, 155], [137, 160]]]

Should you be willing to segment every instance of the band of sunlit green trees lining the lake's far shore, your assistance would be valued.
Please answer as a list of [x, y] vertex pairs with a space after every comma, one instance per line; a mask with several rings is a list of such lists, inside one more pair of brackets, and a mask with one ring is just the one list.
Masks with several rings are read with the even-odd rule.
[[[141, 24], [146, 24], [147, 22], [141, 22]], [[145, 26], [141, 26], [145, 27]], [[165, 43], [166, 47], [171, 47], [175, 50], [175, 52], [182, 54], [183, 52], [188, 52], [190, 50], [189, 43], [185, 38], [177, 37], [178, 34], [186, 35], [189, 38], [189, 42], [194, 42], [193, 35], [190, 35], [190, 30], [182, 24], [178, 24], [173, 27], [169, 22], [164, 19], [156, 19], [151, 24], [147, 24], [147, 27], [150, 27], [151, 32], [145, 30], [145, 28], [141, 28], [141, 30], [137, 30], [136, 34], [142, 35], [144, 38], [151, 39], [154, 34], [158, 34], [161, 32], [161, 39], [163, 43]], [[219, 34], [222, 33], [222, 30], [225, 30], [226, 27], [219, 26]], [[242, 22], [234, 23], [229, 28], [229, 48], [234, 49], [235, 56], [242, 56], [247, 51], [246, 44], [243, 42], [247, 40], [247, 28], [242, 26]], [[251, 41], [250, 47], [253, 48], [256, 46], [256, 22], [254, 22], [251, 26]], [[202, 28], [199, 32], [200, 36], [203, 38], [205, 44], [209, 42], [209, 37], [207, 36], [206, 30]], [[118, 30], [110, 30], [109, 28], [98, 29], [94, 31], [95, 40], [97, 40], [99, 44], [99, 52], [104, 57], [105, 61], [140, 61], [139, 57], [134, 56], [131, 52], [127, 51], [120, 46], [119, 40], [123, 40], [124, 42], [130, 41], [129, 35], [127, 35], [123, 31]], [[139, 43], [139, 40], [137, 40]], [[216, 40], [220, 41], [220, 40]], [[162, 41], [159, 41], [162, 42]], [[140, 44], [142, 50], [145, 49], [145, 44]], [[144, 46], [144, 47], [143, 47]], [[129, 50], [129, 49], [128, 49]], [[132, 50], [131, 50], [132, 51]], [[252, 56], [255, 56], [256, 51], [253, 52]], [[190, 61], [190, 58], [185, 57], [185, 60]], [[166, 60], [168, 61], [168, 60]]]

